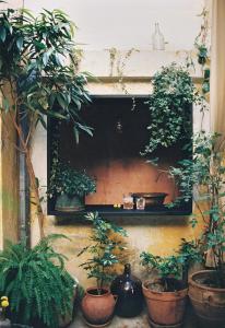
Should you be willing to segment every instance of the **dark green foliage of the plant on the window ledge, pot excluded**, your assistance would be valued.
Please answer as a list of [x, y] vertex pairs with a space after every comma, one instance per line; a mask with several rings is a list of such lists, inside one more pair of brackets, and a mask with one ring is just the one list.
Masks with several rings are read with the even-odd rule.
[[59, 196], [74, 195], [85, 196], [96, 191], [96, 181], [86, 175], [85, 171], [79, 172], [69, 165], [62, 164], [58, 159], [52, 160], [50, 179], [48, 186], [48, 195]]

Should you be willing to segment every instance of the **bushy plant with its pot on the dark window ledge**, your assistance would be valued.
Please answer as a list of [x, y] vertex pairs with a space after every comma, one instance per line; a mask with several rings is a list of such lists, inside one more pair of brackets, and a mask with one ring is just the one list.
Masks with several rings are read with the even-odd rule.
[[96, 191], [96, 181], [85, 171], [76, 171], [52, 160], [48, 195], [56, 199], [57, 211], [82, 211], [84, 210], [84, 198]]

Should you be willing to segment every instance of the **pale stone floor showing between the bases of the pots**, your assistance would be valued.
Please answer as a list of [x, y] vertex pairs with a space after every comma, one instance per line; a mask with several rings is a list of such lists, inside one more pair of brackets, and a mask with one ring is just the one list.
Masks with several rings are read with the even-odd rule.
[[[81, 313], [76, 314], [74, 321], [69, 326], [69, 328], [86, 328], [86, 327], [88, 326], [83, 321]], [[140, 316], [130, 319], [125, 319], [115, 316], [111, 324], [108, 325], [108, 327], [109, 328], [149, 328], [151, 326], [147, 321], [146, 312], [143, 311], [143, 313]], [[190, 308], [187, 311], [182, 328], [197, 328], [196, 317], [192, 314]], [[212, 328], [216, 328], [216, 327], [212, 327]]]

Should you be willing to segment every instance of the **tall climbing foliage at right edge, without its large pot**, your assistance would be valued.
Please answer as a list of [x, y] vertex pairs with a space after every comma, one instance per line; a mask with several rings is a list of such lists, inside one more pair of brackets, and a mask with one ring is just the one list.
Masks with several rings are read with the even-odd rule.
[[[183, 160], [170, 174], [180, 186], [179, 201], [193, 198], [199, 213], [205, 223], [199, 244], [215, 268], [215, 285], [225, 288], [225, 212], [224, 212], [224, 140], [218, 133], [200, 131], [193, 136], [193, 157]], [[206, 210], [201, 207], [205, 202]], [[193, 215], [192, 224], [197, 224]]]

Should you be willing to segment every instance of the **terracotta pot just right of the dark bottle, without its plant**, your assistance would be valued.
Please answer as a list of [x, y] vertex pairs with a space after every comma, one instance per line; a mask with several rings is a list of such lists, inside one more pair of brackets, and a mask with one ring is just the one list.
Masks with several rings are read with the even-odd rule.
[[150, 281], [142, 284], [150, 320], [162, 326], [175, 326], [182, 323], [188, 289], [177, 292], [157, 292], [150, 290]]

